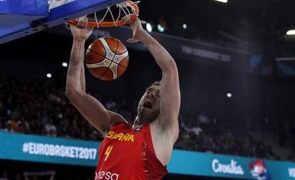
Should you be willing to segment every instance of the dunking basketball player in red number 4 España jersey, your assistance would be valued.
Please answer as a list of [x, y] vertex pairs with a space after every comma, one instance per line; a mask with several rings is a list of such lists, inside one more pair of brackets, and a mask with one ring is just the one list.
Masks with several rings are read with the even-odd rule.
[[[173, 144], [179, 128], [180, 87], [175, 61], [169, 53], [141, 26], [140, 20], [130, 22], [133, 38], [142, 42], [162, 70], [162, 80], [153, 83], [138, 104], [134, 125], [106, 110], [85, 91], [84, 45], [91, 35], [87, 18], [71, 26], [73, 48], [66, 79], [66, 95], [83, 117], [103, 133], [95, 179], [143, 180], [162, 179], [167, 174]], [[152, 72], [151, 72], [152, 73]]]

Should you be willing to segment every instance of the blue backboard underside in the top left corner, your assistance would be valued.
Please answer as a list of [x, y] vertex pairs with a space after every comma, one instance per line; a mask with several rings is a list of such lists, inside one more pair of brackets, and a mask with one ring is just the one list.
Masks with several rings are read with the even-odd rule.
[[[123, 1], [0, 0], [0, 44], [106, 9]], [[29, 2], [30, 6], [28, 6]]]

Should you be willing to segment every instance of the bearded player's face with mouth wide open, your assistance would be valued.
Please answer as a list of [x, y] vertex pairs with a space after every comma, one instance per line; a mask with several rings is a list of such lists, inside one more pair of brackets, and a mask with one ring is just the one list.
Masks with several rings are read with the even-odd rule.
[[152, 85], [145, 91], [138, 104], [140, 124], [155, 120], [160, 114], [160, 85]]

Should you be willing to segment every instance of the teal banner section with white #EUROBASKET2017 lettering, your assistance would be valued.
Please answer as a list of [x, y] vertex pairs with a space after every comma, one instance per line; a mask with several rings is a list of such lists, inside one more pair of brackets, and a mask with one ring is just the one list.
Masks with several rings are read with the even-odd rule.
[[0, 159], [96, 166], [99, 142], [0, 132]]

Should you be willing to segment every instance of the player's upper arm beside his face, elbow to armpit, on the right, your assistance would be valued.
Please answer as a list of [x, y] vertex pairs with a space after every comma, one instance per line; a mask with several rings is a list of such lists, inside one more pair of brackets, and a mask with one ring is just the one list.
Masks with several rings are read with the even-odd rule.
[[160, 118], [173, 129], [178, 128], [178, 114], [180, 111], [180, 85], [177, 66], [162, 73], [160, 88]]

